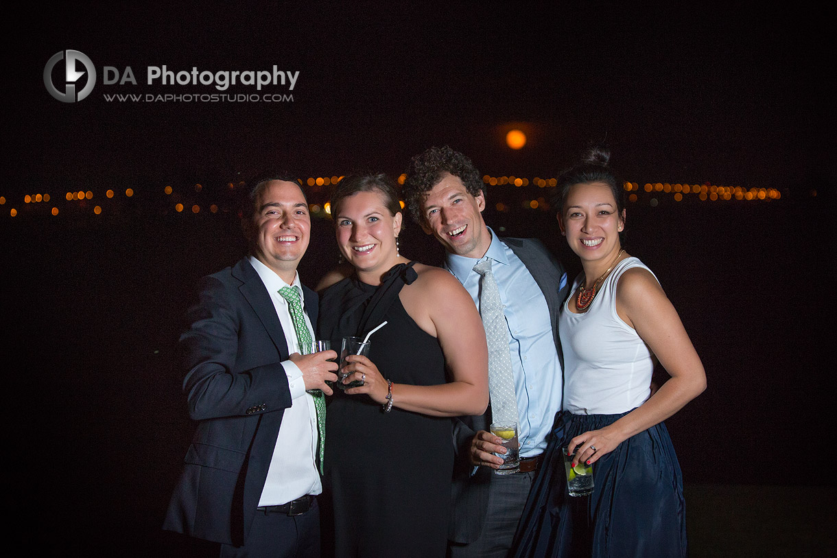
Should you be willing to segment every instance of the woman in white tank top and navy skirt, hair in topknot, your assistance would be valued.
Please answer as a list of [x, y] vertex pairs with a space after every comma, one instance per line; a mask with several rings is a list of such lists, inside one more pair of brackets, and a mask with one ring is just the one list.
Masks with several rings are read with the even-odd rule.
[[[521, 556], [686, 555], [663, 421], [706, 389], [706, 375], [660, 283], [622, 247], [622, 182], [608, 159], [593, 149], [558, 183], [558, 223], [583, 272], [562, 308], [563, 411], [521, 519]], [[655, 360], [671, 377], [652, 395]], [[563, 447], [594, 464], [590, 496], [568, 495]]]

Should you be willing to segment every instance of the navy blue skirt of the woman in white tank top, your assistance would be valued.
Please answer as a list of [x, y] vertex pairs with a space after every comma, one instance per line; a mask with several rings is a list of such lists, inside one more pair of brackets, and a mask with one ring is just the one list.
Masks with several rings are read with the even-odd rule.
[[590, 496], [567, 492], [562, 447], [627, 414], [558, 414], [517, 531], [516, 556], [686, 556], [683, 478], [663, 423], [593, 463]]

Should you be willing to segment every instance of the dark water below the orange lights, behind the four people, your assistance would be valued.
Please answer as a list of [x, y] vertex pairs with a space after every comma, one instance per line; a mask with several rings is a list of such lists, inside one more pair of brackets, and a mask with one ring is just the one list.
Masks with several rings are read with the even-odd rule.
[[[819, 426], [834, 399], [826, 214], [629, 207], [628, 250], [659, 276], [706, 366], [706, 393], [667, 421], [686, 483], [786, 484], [796, 452], [811, 450], [801, 470], [814, 474], [793, 483], [833, 484], [816, 473], [834, 458]], [[487, 220], [541, 238], [579, 271], [551, 213]], [[128, 214], [2, 227], [7, 455], [23, 473], [10, 479], [12, 532], [60, 554], [177, 555], [159, 525], [192, 425], [172, 349], [198, 278], [243, 255], [239, 225]], [[310, 284], [336, 262], [330, 223], [313, 235], [300, 268]], [[415, 225], [402, 252], [440, 256]]]

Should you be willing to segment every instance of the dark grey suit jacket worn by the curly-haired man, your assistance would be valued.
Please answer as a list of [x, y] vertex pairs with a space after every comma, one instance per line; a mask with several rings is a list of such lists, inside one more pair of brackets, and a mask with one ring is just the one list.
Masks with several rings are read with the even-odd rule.
[[[500, 240], [521, 259], [538, 287], [541, 287], [552, 319], [555, 350], [563, 364], [561, 338], [558, 336], [558, 312], [567, 297], [568, 289], [566, 281], [563, 286], [561, 285], [565, 274], [563, 266], [539, 240], [518, 238], [501, 238]], [[490, 407], [483, 415], [462, 416], [454, 420], [456, 464], [448, 538], [457, 543], [470, 543], [476, 540], [482, 532], [485, 509], [488, 506], [488, 486], [494, 475], [492, 469], [487, 467], [480, 467], [471, 475], [473, 465], [470, 463], [469, 448], [476, 431], [487, 431], [490, 424]]]

